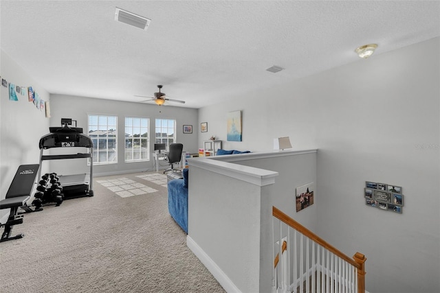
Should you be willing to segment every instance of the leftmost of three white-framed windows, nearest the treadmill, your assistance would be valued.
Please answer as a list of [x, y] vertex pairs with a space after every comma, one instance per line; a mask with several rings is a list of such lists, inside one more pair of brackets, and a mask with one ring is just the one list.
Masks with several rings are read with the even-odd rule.
[[118, 163], [117, 124], [116, 116], [89, 115], [89, 137], [94, 142], [94, 164]]

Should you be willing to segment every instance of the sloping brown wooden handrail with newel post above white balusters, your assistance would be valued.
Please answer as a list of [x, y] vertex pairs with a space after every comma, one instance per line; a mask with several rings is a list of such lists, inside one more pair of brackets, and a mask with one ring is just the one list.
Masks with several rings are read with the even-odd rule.
[[[312, 239], [314, 242], [316, 242], [320, 246], [324, 247], [325, 249], [329, 250], [334, 255], [337, 255], [341, 259], [344, 259], [344, 261], [347, 261], [352, 266], [357, 268], [358, 269], [358, 279], [359, 279], [359, 282], [362, 283], [362, 281], [360, 280], [361, 279], [360, 277], [362, 276], [362, 279], [365, 278], [364, 277], [364, 275], [365, 275], [364, 263], [366, 261], [365, 255], [362, 255], [362, 253], [356, 253], [353, 256], [353, 259], [354, 259], [353, 260], [350, 257], [347, 257], [347, 255], [344, 255], [344, 253], [341, 253], [340, 250], [331, 246], [331, 244], [328, 244], [327, 242], [325, 242], [324, 239], [322, 239], [321, 237], [319, 237], [315, 233], [311, 232], [305, 226], [301, 225], [300, 223], [296, 222], [294, 219], [290, 218], [288, 215], [286, 215], [285, 213], [283, 213], [282, 211], [280, 211], [276, 207], [272, 207], [272, 215], [274, 215], [274, 217], [277, 218], [278, 220], [281, 220], [285, 224], [291, 226], [296, 231], [305, 235], [309, 239]], [[363, 280], [363, 283], [364, 283], [364, 280]], [[363, 291], [360, 291], [360, 292], [363, 292]]]

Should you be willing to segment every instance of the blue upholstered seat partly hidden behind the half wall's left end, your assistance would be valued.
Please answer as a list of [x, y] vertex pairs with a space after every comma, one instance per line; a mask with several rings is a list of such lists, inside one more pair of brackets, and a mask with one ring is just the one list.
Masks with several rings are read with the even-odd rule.
[[188, 234], [188, 169], [183, 169], [183, 179], [168, 181], [168, 211]]

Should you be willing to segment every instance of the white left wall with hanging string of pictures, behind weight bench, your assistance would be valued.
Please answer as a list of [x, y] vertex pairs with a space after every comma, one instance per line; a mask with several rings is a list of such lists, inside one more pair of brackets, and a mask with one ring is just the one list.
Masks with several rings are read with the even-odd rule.
[[[50, 100], [50, 95], [35, 82], [17, 63], [1, 50], [0, 75], [16, 86], [28, 90], [32, 86], [41, 99]], [[28, 94], [17, 94], [17, 102], [9, 100], [9, 88], [0, 86], [0, 200], [5, 198], [19, 165], [39, 163], [39, 140], [49, 130], [49, 119], [45, 112], [28, 102]], [[3, 216], [9, 210], [0, 210]]]

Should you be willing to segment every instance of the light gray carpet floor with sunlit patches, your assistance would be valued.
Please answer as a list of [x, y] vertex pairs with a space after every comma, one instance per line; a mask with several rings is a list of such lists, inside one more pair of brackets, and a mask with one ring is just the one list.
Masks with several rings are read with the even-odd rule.
[[[146, 174], [97, 177], [94, 197], [26, 213], [13, 231], [25, 237], [0, 244], [0, 292], [225, 292]], [[118, 178], [157, 192], [121, 197], [97, 182]]]

